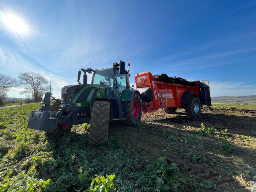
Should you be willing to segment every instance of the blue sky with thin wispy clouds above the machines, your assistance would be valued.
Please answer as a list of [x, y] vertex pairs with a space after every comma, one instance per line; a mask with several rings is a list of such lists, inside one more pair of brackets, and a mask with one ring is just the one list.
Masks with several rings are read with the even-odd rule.
[[[256, 1], [1, 0], [0, 6], [29, 27], [21, 37], [53, 77], [55, 96], [76, 84], [80, 67], [107, 68], [120, 59], [131, 63], [133, 83], [135, 74], [149, 71], [209, 80], [211, 96], [256, 94]], [[1, 20], [0, 70], [49, 79]]]

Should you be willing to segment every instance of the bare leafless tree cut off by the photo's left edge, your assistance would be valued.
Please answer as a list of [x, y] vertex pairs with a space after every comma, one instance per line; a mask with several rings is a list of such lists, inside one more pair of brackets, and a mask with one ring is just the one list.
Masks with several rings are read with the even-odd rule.
[[0, 103], [3, 103], [3, 100], [6, 97], [6, 92], [11, 88], [17, 85], [16, 79], [11, 78], [10, 75], [0, 74]]

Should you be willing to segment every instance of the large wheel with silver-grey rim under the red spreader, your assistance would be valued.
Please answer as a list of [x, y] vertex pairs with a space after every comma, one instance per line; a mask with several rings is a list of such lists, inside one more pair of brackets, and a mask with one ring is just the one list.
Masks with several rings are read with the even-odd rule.
[[188, 116], [197, 117], [201, 112], [201, 102], [195, 96], [189, 98], [188, 104], [185, 105], [185, 112]]

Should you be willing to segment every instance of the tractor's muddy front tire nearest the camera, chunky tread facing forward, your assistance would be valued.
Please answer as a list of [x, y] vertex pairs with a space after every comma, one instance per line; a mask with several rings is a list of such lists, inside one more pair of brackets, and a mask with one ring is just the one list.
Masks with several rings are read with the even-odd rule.
[[110, 102], [95, 101], [91, 110], [89, 141], [93, 146], [108, 142]]

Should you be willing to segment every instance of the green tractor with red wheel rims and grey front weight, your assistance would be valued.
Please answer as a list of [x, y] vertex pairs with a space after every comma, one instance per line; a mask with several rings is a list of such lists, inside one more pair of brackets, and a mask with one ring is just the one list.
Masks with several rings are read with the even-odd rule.
[[[130, 68], [130, 64], [128, 63]], [[80, 82], [83, 71], [83, 83]], [[92, 74], [87, 84], [87, 74]], [[128, 125], [140, 123], [142, 105], [138, 90], [130, 87], [129, 70], [125, 62], [113, 63], [112, 68], [79, 69], [78, 84], [64, 86], [61, 98], [45, 93], [39, 111], [31, 111], [28, 128], [57, 135], [71, 130], [72, 125], [90, 123], [90, 144], [101, 145], [108, 141], [109, 122], [123, 120]], [[51, 105], [50, 98], [56, 102]]]

